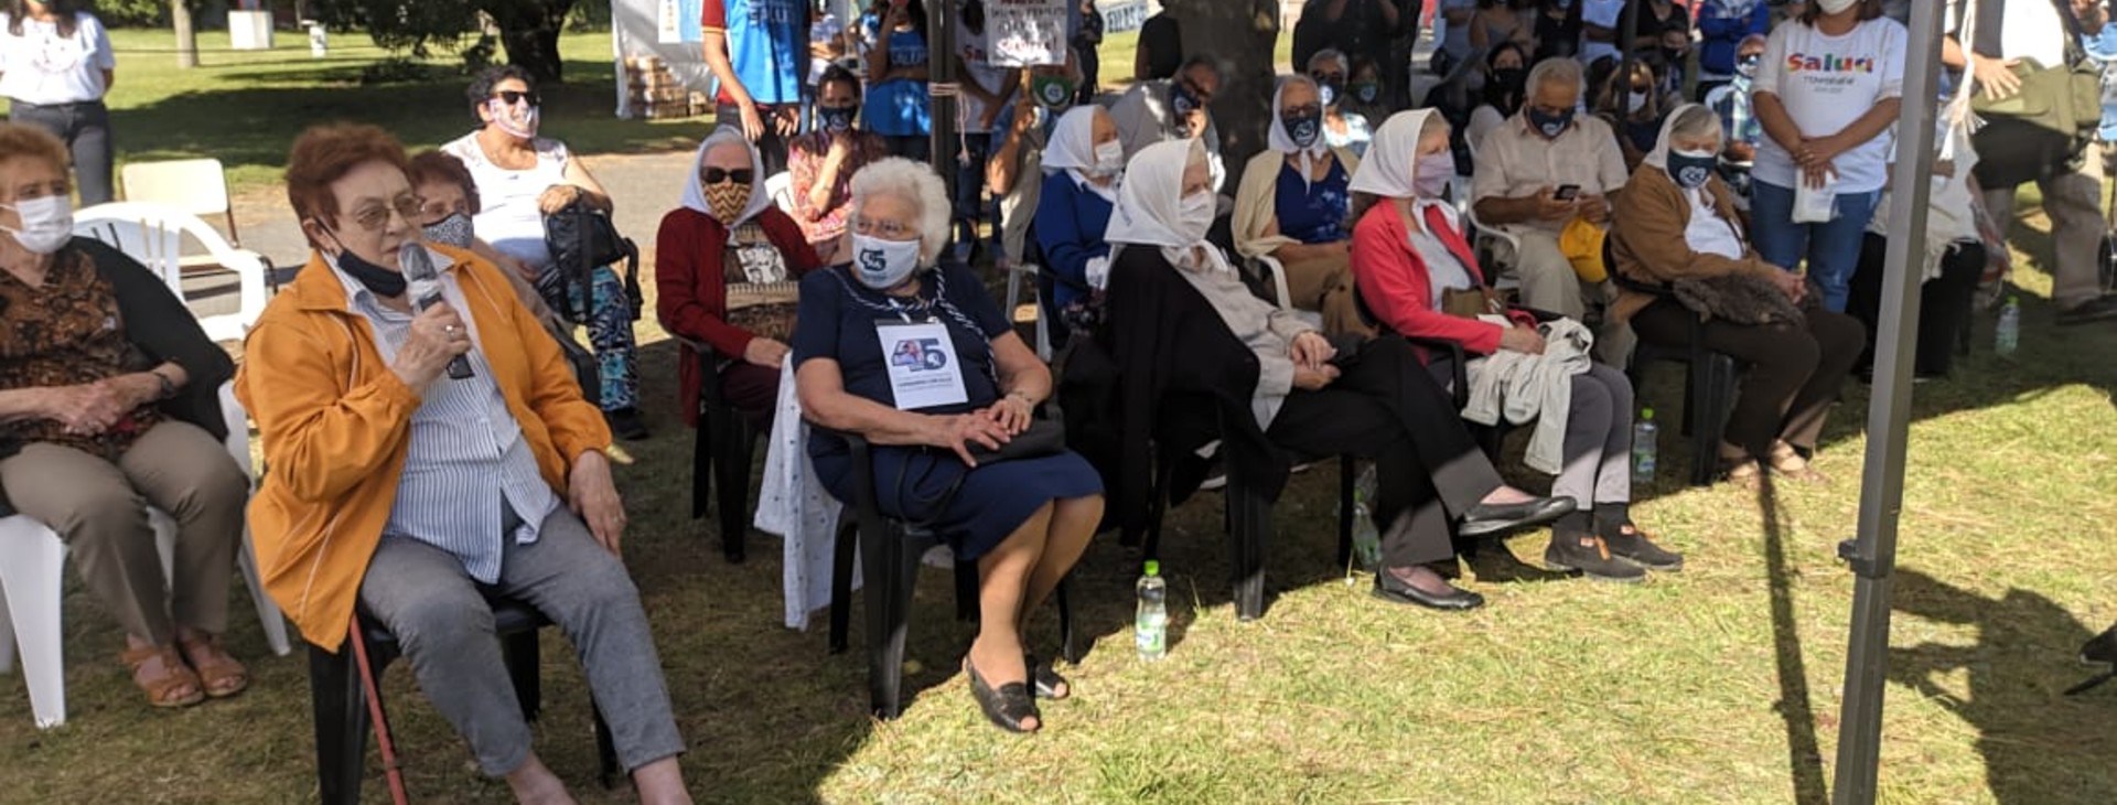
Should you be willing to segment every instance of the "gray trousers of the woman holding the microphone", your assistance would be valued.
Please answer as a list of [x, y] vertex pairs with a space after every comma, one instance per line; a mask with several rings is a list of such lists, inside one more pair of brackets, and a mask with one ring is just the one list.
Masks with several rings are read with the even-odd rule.
[[536, 542], [506, 538], [495, 585], [472, 580], [442, 549], [385, 536], [360, 583], [360, 606], [398, 638], [419, 688], [470, 741], [487, 775], [529, 761], [529, 724], [500, 659], [487, 595], [536, 606], [565, 631], [627, 771], [684, 752], [639, 591], [580, 517], [561, 506]]

